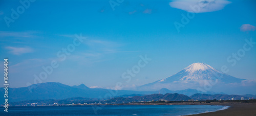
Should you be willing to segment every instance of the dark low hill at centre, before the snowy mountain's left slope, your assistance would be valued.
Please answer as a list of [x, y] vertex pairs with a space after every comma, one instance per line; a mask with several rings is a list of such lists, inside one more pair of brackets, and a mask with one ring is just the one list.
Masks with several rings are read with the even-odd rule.
[[157, 101], [157, 100], [166, 100], [166, 101], [187, 101], [190, 100], [188, 96], [182, 94], [153, 94], [153, 95], [145, 95], [145, 96], [135, 96], [132, 98], [113, 98], [106, 100], [106, 103], [129, 103], [129, 102], [140, 102], [140, 101]]

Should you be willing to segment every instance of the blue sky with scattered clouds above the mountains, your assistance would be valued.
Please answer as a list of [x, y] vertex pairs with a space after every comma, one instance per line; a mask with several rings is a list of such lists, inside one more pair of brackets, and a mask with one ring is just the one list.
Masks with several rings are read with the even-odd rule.
[[[0, 64], [8, 58], [9, 87], [60, 82], [111, 88], [121, 82], [129, 89], [195, 62], [220, 71], [224, 65], [228, 75], [255, 80], [255, 5], [222, 0], [2, 0]], [[136, 73], [131, 80], [122, 78], [127, 70]]]

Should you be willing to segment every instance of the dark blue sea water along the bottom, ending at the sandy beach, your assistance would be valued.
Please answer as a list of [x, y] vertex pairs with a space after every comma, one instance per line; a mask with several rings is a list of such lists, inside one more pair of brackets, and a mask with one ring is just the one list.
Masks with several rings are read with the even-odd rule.
[[213, 105], [27, 106], [0, 108], [0, 115], [188, 115], [223, 110]]

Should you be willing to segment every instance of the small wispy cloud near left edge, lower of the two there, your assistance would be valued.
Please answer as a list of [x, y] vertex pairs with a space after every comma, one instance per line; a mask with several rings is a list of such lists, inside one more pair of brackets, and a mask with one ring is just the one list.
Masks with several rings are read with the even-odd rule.
[[22, 55], [22, 54], [26, 54], [26, 53], [32, 53], [34, 52], [33, 49], [31, 49], [30, 47], [5, 47], [5, 49], [9, 50], [9, 52], [13, 55]]

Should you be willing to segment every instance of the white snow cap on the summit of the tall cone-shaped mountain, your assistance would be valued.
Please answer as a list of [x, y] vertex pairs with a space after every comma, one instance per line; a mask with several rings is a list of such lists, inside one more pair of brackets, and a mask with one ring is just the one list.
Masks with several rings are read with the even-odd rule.
[[205, 71], [208, 69], [213, 69], [215, 70], [213, 67], [209, 66], [208, 64], [205, 63], [193, 63], [189, 66], [187, 66], [185, 69], [185, 72], [190, 72], [190, 73], [194, 73], [194, 72], [198, 72], [198, 71]]

